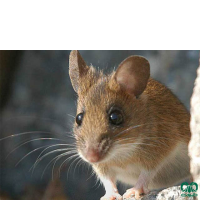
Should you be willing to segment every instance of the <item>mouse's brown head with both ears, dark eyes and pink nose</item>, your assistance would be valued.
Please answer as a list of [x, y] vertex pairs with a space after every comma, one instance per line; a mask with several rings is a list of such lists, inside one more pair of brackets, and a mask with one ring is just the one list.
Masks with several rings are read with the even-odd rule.
[[125, 148], [134, 150], [134, 145], [126, 145], [127, 140], [138, 142], [139, 133], [133, 137], [128, 128], [141, 124], [144, 117], [143, 93], [149, 74], [149, 62], [140, 56], [128, 57], [116, 71], [104, 75], [87, 66], [78, 51], [71, 52], [69, 75], [78, 94], [74, 134], [84, 160], [119, 160]]

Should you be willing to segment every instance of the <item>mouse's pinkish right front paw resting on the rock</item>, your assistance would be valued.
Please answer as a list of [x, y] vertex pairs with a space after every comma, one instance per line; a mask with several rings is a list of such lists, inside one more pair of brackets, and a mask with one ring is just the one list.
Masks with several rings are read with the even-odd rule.
[[123, 195], [123, 199], [129, 199], [134, 197], [135, 199], [140, 199], [140, 197], [146, 193], [148, 193], [148, 189], [144, 189], [143, 187], [141, 188], [131, 188], [126, 190], [126, 192]]

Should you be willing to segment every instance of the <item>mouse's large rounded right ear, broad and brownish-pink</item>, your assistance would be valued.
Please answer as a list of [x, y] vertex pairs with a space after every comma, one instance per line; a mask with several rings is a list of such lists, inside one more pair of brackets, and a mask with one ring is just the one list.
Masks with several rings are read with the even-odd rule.
[[119, 65], [115, 80], [129, 94], [136, 97], [145, 90], [150, 76], [150, 64], [141, 56], [130, 56]]

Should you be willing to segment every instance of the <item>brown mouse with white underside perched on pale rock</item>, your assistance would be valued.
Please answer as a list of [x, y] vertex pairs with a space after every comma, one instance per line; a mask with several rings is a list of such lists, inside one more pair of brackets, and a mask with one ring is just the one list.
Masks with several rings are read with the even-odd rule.
[[[129, 56], [104, 74], [72, 50], [69, 76], [77, 93], [76, 148], [105, 188], [101, 200], [139, 199], [191, 177], [190, 114], [150, 76], [146, 58]], [[130, 188], [123, 195], [118, 182]]]

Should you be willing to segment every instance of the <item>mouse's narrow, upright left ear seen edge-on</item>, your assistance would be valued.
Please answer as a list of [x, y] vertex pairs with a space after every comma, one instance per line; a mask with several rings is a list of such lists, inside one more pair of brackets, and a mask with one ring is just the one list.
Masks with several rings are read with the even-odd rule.
[[89, 70], [79, 51], [73, 50], [69, 55], [69, 76], [75, 92], [78, 92], [81, 77], [84, 77]]

